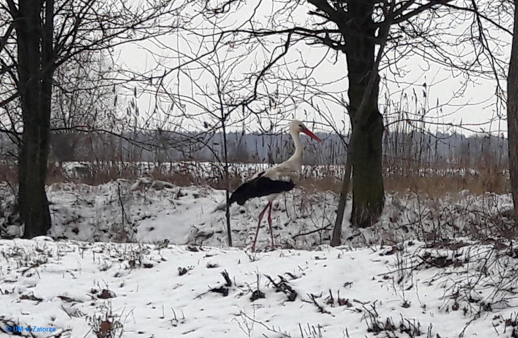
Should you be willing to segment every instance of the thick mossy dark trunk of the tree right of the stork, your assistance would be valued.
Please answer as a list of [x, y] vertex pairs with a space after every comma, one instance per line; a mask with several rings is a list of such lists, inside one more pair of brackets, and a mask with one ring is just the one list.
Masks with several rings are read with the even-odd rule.
[[[379, 77], [366, 93], [372, 72], [378, 72], [375, 55], [375, 27], [372, 25], [372, 1], [349, 3], [352, 20], [344, 31], [347, 44], [349, 105], [352, 123], [351, 162], [354, 227], [365, 228], [378, 221], [384, 204], [382, 178], [383, 119], [378, 109]], [[358, 115], [364, 104], [365, 110]]]

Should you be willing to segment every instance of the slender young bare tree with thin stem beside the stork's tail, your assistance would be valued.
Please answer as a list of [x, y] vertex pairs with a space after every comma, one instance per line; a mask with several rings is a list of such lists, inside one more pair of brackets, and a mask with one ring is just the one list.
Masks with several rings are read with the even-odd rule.
[[[218, 41], [215, 37], [202, 41], [200, 45], [212, 50]], [[166, 49], [172, 55], [182, 53], [174, 47], [169, 46]], [[156, 51], [150, 52], [156, 54]], [[287, 100], [291, 89], [284, 88], [274, 95], [258, 91], [256, 97], [250, 100], [247, 89], [250, 81], [239, 72], [240, 67], [248, 66], [250, 57], [246, 53], [236, 53], [232, 45], [214, 48], [213, 52], [203, 57], [197, 54], [182, 57], [183, 66], [166, 71], [166, 75], [160, 79], [159, 87], [154, 89], [157, 97], [155, 109], [160, 109], [159, 115], [164, 121], [169, 121], [164, 123], [164, 129], [170, 128], [172, 121], [182, 121], [186, 124], [185, 133], [189, 129], [200, 131], [198, 136], [202, 138], [197, 139], [203, 139], [204, 147], [211, 151], [214, 161], [219, 164], [217, 169], [223, 180], [228, 202], [233, 178], [229, 172], [231, 147], [228, 134], [238, 128], [243, 130], [244, 123], [251, 119], [261, 122], [263, 116], [274, 118], [279, 114], [276, 105]], [[166, 64], [161, 66], [167, 69]], [[245, 109], [243, 102], [249, 104], [250, 109]], [[252, 106], [254, 109], [251, 109]], [[270, 123], [269, 129], [272, 128], [274, 124]], [[221, 136], [221, 139], [214, 139], [217, 136]], [[228, 245], [232, 246], [228, 205], [225, 210]]]

